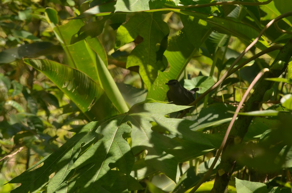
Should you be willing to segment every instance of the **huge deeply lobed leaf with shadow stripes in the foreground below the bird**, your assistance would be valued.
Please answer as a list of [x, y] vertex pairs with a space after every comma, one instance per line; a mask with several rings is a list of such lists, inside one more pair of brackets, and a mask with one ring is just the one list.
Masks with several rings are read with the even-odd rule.
[[[138, 177], [137, 172], [131, 171], [134, 155], [142, 150], [147, 150], [147, 170], [161, 171], [175, 181], [178, 162], [214, 149], [206, 137], [209, 134], [191, 130], [194, 122], [165, 117], [185, 108], [188, 106], [147, 99], [127, 113], [91, 122], [57, 151], [11, 180], [10, 183], [21, 183], [13, 192], [36, 192], [46, 183], [48, 192], [138, 190], [141, 185], [133, 178]], [[159, 132], [152, 128], [151, 122], [160, 127]], [[130, 136], [131, 146], [125, 139]], [[32, 170], [41, 163], [43, 166]]]

